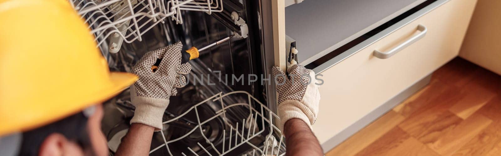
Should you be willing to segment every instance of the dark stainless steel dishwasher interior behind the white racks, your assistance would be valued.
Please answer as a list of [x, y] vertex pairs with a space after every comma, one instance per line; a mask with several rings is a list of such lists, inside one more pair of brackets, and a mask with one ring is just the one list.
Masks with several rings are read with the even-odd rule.
[[[242, 11], [242, 10], [240, 10]], [[243, 10], [245, 11], [245, 10]], [[176, 24], [174, 21], [165, 20], [165, 23], [160, 23], [153, 27], [150, 31], [147, 31], [143, 35], [142, 41], [134, 41], [130, 44], [124, 43], [118, 53], [109, 53], [107, 47], [101, 46], [103, 55], [107, 58], [110, 69], [115, 71], [130, 71], [135, 62], [141, 58], [141, 56], [149, 51], [157, 48], [161, 48], [176, 41], [183, 42], [183, 50], [191, 46], [204, 46], [210, 42], [227, 36], [232, 33], [231, 29], [227, 28], [220, 21], [215, 19], [212, 15], [208, 15], [203, 12], [195, 11], [184, 11], [182, 13], [184, 18], [183, 24]], [[250, 30], [249, 30], [250, 31]], [[220, 71], [221, 74], [250, 74], [256, 73], [256, 62], [253, 61], [253, 52], [250, 48], [250, 37], [247, 38], [231, 38], [229, 41], [222, 43], [218, 46], [211, 47], [210, 49], [204, 50], [200, 53], [200, 57], [189, 61], [192, 65], [192, 71], [188, 76], [190, 80], [186, 87], [178, 89], [177, 96], [170, 97], [170, 104], [165, 111], [164, 119], [167, 120], [178, 114], [184, 112], [190, 108], [193, 104], [200, 102], [218, 92], [230, 92], [233, 90], [244, 90], [256, 97], [266, 96], [266, 91], [259, 90], [255, 82], [249, 82], [244, 78], [243, 84], [238, 83], [228, 83], [224, 84], [218, 80], [218, 73], [213, 71]], [[107, 45], [102, 44], [102, 45]], [[256, 73], [257, 74], [257, 73]], [[209, 75], [209, 76], [208, 76]], [[194, 77], [202, 77], [202, 83], [197, 82], [193, 84]], [[214, 85], [207, 85], [208, 82], [215, 83]], [[225, 103], [239, 103], [246, 102], [246, 96], [234, 96], [230, 99], [226, 99]], [[123, 136], [124, 129], [127, 129], [129, 125], [129, 120], [133, 116], [134, 106], [130, 102], [129, 90], [125, 90], [116, 97], [106, 101], [105, 107], [105, 117], [102, 122], [102, 129], [105, 133], [108, 141], [116, 139], [114, 137]], [[201, 114], [202, 118], [209, 118], [215, 114], [215, 111], [220, 109], [221, 105], [219, 103], [209, 104], [205, 106], [204, 111], [198, 112]], [[237, 120], [232, 120], [233, 118], [245, 118], [248, 115], [248, 109], [243, 107], [240, 109], [229, 109], [230, 114], [226, 116], [226, 119], [237, 122]], [[189, 112], [187, 117], [182, 117], [170, 124], [164, 124], [163, 131], [166, 134], [166, 139], [177, 138], [181, 135], [186, 134], [190, 129], [196, 125], [196, 117], [194, 112]], [[208, 137], [211, 142], [216, 142], [216, 147], [221, 146], [222, 129], [226, 124], [223, 124], [222, 119], [218, 118], [211, 120], [210, 122], [203, 125], [204, 133], [194, 131], [175, 143], [169, 144], [169, 149], [173, 152], [173, 155], [180, 155], [183, 153], [191, 153], [186, 147], [190, 146], [197, 153], [203, 153], [202, 149], [196, 144], [200, 142], [205, 148], [210, 149], [210, 145], [204, 143], [204, 139], [201, 135]], [[258, 127], [263, 128], [263, 127]], [[253, 144], [260, 145], [264, 141], [265, 136], [261, 138], [256, 138], [252, 140]], [[153, 136], [153, 141], [151, 148], [155, 148], [163, 143], [162, 136], [159, 132], [155, 132]], [[116, 140], [115, 140], [116, 141]], [[113, 154], [113, 149], [116, 149], [115, 144], [109, 143], [111, 154]], [[198, 147], [198, 148], [197, 148]], [[233, 153], [228, 155], [238, 155], [242, 154], [251, 146], [243, 145], [234, 150]], [[247, 151], [248, 152], [248, 151]], [[156, 150], [150, 155], [169, 155], [165, 147]], [[204, 155], [204, 154], [202, 154]]]

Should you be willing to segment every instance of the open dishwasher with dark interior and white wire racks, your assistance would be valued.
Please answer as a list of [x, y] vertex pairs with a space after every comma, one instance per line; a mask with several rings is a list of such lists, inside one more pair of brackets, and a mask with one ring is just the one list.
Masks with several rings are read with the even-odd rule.
[[[274, 125], [279, 120], [275, 88], [250, 76], [236, 83], [221, 76], [267, 75], [266, 60], [273, 57], [263, 50], [260, 0], [70, 3], [89, 25], [112, 71], [130, 72], [147, 51], [177, 41], [186, 50], [232, 36], [189, 61], [189, 83], [170, 97], [163, 130], [153, 134], [150, 155], [285, 154], [285, 137]], [[103, 106], [102, 130], [113, 155], [134, 114], [129, 90]]]

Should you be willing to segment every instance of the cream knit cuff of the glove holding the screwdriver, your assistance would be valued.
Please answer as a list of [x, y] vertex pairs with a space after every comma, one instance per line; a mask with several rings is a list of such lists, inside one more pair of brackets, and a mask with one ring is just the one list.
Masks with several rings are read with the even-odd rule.
[[132, 123], [143, 123], [155, 127], [155, 131], [162, 130], [162, 117], [169, 104], [169, 99], [136, 96], [132, 103], [136, 106]]

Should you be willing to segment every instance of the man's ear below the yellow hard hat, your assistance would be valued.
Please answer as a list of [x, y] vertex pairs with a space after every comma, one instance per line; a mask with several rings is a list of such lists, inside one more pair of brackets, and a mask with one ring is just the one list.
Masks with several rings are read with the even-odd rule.
[[45, 138], [40, 145], [40, 156], [63, 155], [64, 145], [68, 143], [68, 139], [60, 133], [52, 133]]

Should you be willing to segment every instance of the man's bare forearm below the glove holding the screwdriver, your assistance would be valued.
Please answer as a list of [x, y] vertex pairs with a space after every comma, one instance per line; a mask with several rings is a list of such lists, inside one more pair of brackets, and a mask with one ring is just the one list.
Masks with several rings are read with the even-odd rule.
[[146, 124], [132, 123], [115, 155], [148, 155], [155, 128]]

